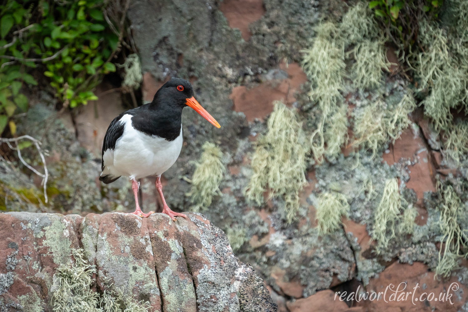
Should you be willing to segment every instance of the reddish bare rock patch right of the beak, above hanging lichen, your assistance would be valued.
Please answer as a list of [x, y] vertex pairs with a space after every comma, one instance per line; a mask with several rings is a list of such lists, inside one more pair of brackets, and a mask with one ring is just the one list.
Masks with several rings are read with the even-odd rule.
[[273, 111], [273, 101], [283, 100], [286, 103], [295, 102], [294, 93], [307, 81], [306, 74], [297, 63], [287, 67], [282, 63], [280, 69], [287, 73], [288, 78], [273, 79], [263, 84], [247, 89], [245, 86], [234, 87], [230, 99], [234, 102], [233, 109], [243, 112], [249, 123], [263, 120]]

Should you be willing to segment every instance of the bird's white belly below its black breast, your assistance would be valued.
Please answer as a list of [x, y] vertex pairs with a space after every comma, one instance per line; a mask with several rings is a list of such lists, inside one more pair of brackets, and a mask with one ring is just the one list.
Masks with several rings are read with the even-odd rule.
[[125, 123], [124, 133], [116, 142], [113, 168], [109, 168], [111, 173], [131, 179], [164, 173], [179, 157], [183, 143], [182, 127], [175, 140], [167, 141], [134, 129], [131, 117], [124, 115], [121, 119]]

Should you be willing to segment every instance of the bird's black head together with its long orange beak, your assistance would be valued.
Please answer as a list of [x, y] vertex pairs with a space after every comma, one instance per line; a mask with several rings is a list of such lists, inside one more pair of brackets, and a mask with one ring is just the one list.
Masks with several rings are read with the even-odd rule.
[[214, 126], [220, 127], [219, 123], [193, 97], [192, 84], [180, 78], [172, 78], [162, 85], [154, 95], [150, 109], [163, 109], [166, 112], [173, 111], [182, 114], [185, 106], [190, 106]]

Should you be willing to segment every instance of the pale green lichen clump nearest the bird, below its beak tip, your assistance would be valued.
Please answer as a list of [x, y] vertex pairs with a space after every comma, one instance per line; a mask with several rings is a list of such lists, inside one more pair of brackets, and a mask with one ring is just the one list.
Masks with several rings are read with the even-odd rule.
[[221, 161], [222, 152], [218, 146], [205, 142], [202, 146], [203, 153], [200, 162], [195, 162], [195, 172], [192, 176], [192, 187], [187, 196], [191, 196], [190, 202], [195, 203], [192, 211], [208, 209], [213, 196], [220, 195], [219, 184], [223, 180], [225, 167]]

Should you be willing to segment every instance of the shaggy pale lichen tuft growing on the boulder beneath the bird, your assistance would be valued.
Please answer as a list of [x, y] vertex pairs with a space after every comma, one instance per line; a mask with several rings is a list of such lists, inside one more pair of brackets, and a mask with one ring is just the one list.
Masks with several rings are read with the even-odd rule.
[[91, 290], [94, 266], [84, 259], [82, 249], [71, 249], [73, 264], [62, 264], [51, 287], [53, 312], [147, 312], [149, 305], [124, 298], [122, 292]]

